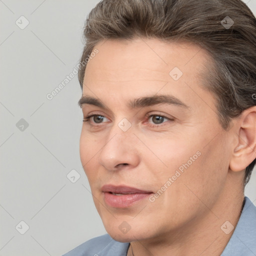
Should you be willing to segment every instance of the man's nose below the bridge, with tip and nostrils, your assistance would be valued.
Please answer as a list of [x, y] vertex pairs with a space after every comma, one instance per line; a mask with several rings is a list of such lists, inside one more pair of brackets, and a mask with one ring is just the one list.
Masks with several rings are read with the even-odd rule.
[[107, 170], [135, 167], [139, 163], [139, 148], [136, 144], [138, 138], [131, 128], [123, 131], [117, 125], [113, 126], [98, 154], [99, 163]]

